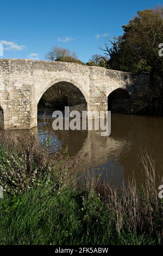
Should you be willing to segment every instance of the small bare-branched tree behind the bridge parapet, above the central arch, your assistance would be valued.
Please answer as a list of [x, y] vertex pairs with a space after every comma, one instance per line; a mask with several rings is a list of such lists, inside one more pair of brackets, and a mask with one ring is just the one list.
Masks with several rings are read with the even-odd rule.
[[57, 61], [58, 59], [66, 58], [66, 57], [72, 57], [77, 59], [77, 55], [75, 52], [71, 52], [68, 49], [61, 48], [58, 46], [53, 46], [51, 51], [46, 53], [45, 58], [48, 61]]

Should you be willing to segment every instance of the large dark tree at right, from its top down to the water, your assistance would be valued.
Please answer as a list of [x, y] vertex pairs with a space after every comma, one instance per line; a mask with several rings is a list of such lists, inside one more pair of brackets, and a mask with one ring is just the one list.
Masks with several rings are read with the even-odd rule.
[[[163, 43], [163, 8], [138, 11], [123, 35], [105, 43], [101, 50], [109, 56], [111, 69], [133, 73], [150, 72], [151, 85], [143, 95], [143, 103], [150, 114], [163, 114], [163, 57], [159, 45]], [[111, 47], [109, 46], [111, 44]]]

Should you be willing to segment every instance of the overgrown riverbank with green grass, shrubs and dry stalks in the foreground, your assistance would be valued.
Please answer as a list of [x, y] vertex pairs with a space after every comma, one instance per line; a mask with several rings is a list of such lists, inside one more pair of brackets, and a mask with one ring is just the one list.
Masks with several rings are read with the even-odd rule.
[[146, 184], [117, 191], [86, 175], [79, 184], [65, 152], [32, 140], [17, 152], [0, 147], [1, 245], [160, 245], [162, 200], [154, 162], [142, 154]]

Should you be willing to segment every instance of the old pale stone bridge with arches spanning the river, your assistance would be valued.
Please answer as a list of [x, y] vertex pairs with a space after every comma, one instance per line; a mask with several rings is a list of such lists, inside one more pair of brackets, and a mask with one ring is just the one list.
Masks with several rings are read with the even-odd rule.
[[[139, 88], [146, 88], [148, 83], [148, 74], [133, 76], [126, 72], [66, 62], [0, 59], [1, 124], [4, 129], [37, 126], [37, 104], [53, 85], [64, 92], [72, 109], [106, 111], [111, 103], [114, 109], [114, 92], [118, 90], [120, 96], [123, 93], [127, 95], [124, 100], [119, 97], [123, 106], [127, 98]], [[113, 97], [109, 99], [109, 95]], [[131, 111], [128, 105], [128, 112]]]

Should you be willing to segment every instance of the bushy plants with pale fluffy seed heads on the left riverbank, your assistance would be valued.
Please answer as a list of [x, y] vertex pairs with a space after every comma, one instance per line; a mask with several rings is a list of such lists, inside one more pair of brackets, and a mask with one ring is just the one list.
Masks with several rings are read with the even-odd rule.
[[[56, 153], [57, 154], [57, 153]], [[35, 147], [33, 138], [29, 138], [23, 152], [5, 151], [0, 146], [0, 184], [4, 192], [8, 194], [23, 193], [40, 183], [52, 184], [53, 189], [59, 189], [64, 183], [68, 162], [66, 152], [62, 156], [58, 152], [60, 160], [51, 156], [51, 139], [43, 141], [40, 150]], [[63, 159], [64, 157], [64, 159]]]

